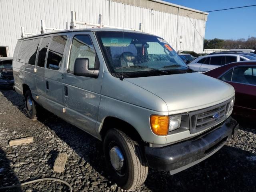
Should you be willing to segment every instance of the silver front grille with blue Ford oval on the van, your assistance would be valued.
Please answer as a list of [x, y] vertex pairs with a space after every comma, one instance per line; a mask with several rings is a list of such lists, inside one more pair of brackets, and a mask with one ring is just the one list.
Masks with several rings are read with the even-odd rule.
[[230, 101], [189, 113], [191, 122], [190, 133], [193, 134], [213, 127], [226, 119], [229, 103]]

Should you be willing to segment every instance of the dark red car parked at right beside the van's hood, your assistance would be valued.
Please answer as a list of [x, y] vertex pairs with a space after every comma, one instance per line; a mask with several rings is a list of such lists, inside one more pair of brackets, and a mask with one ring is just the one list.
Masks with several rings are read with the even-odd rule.
[[234, 115], [256, 117], [256, 62], [234, 62], [203, 74], [232, 85], [236, 92]]

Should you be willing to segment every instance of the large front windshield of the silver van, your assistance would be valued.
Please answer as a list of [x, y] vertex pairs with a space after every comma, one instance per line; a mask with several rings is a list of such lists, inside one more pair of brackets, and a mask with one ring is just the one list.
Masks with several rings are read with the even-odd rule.
[[113, 76], [141, 77], [193, 72], [162, 38], [136, 32], [96, 32]]

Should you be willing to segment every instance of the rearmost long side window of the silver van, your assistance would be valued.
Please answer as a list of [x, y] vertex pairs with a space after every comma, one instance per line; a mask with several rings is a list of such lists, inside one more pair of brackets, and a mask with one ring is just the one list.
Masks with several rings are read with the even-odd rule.
[[19, 59], [21, 63], [35, 65], [36, 53], [40, 38], [24, 40], [20, 46]]

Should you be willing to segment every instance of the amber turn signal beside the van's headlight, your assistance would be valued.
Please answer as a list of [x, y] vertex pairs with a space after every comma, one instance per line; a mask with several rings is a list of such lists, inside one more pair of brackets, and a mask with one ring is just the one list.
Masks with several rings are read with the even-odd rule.
[[167, 135], [169, 129], [169, 117], [160, 115], [150, 116], [150, 127], [156, 135]]

